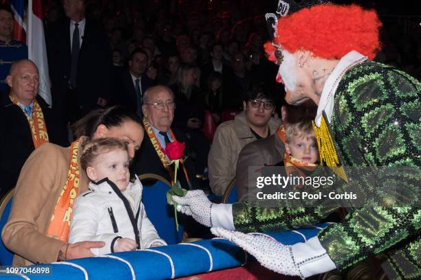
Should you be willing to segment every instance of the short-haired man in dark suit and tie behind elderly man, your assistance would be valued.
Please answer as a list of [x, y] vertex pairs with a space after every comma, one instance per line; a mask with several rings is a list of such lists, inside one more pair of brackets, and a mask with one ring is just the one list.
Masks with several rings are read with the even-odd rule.
[[142, 49], [132, 51], [129, 69], [122, 71], [118, 88], [114, 93], [114, 103], [124, 105], [142, 117], [144, 92], [155, 85], [155, 81], [145, 75], [148, 68], [148, 55]]

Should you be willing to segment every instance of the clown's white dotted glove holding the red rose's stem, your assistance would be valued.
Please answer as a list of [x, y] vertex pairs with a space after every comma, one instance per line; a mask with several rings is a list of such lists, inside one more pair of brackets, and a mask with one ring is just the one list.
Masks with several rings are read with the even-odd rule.
[[186, 196], [172, 196], [177, 202], [177, 211], [190, 215], [200, 224], [212, 226], [211, 211], [213, 203], [202, 189], [187, 191]]

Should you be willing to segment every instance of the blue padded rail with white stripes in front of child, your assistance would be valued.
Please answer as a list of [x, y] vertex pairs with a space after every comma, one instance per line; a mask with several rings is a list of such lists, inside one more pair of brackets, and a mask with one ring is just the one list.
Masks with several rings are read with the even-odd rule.
[[[328, 225], [327, 223], [318, 224], [297, 231], [281, 231], [268, 235], [283, 244], [295, 244], [314, 237], [320, 229]], [[85, 275], [88, 275], [91, 280], [126, 280], [133, 279], [133, 276], [136, 279], [170, 279], [234, 268], [244, 264], [247, 259], [250, 261], [251, 258], [246, 258], [246, 253], [232, 242], [214, 238], [188, 244], [173, 244], [101, 257], [69, 260], [61, 264], [49, 265], [52, 273], [48, 276], [28, 275], [28, 277], [32, 280], [83, 280]], [[0, 273], [1, 277], [9, 277], [9, 275]]]

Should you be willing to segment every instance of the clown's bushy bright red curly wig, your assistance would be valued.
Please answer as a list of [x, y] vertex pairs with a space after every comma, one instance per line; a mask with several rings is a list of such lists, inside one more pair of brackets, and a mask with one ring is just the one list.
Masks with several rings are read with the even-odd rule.
[[374, 10], [358, 5], [315, 5], [281, 17], [274, 43], [291, 54], [305, 49], [320, 58], [341, 59], [355, 50], [372, 60], [380, 49], [381, 26]]

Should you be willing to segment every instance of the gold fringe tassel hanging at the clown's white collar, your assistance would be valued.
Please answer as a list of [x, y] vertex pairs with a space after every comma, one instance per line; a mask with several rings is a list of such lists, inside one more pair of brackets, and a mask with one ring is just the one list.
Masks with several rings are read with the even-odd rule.
[[334, 139], [329, 131], [329, 126], [325, 119], [325, 114], [321, 116], [320, 128], [316, 126], [313, 121], [314, 134], [316, 135], [317, 145], [319, 146], [320, 163], [325, 163], [330, 167], [334, 174], [340, 176], [345, 182], [348, 183], [347, 175], [339, 160], [338, 152], [334, 145]]

